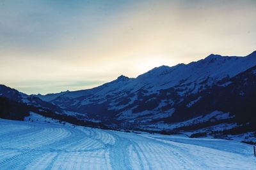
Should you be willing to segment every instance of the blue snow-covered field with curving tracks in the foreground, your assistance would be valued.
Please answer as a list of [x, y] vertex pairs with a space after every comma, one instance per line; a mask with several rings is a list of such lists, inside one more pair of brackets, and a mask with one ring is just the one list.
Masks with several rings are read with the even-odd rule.
[[253, 147], [0, 119], [0, 169], [255, 169]]

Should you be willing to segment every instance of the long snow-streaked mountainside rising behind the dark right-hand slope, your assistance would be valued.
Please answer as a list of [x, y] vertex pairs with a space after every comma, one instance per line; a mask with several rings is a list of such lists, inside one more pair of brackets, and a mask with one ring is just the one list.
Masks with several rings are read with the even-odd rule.
[[106, 121], [170, 117], [186, 96], [225, 82], [253, 66], [256, 66], [256, 52], [246, 57], [211, 54], [189, 64], [156, 67], [137, 78], [120, 76], [93, 89], [56, 94], [51, 103]]

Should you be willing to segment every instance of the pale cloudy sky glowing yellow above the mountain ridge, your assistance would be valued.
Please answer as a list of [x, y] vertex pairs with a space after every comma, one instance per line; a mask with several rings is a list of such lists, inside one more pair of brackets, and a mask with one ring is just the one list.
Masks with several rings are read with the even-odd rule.
[[256, 50], [256, 1], [0, 0], [0, 84], [90, 89], [121, 74]]

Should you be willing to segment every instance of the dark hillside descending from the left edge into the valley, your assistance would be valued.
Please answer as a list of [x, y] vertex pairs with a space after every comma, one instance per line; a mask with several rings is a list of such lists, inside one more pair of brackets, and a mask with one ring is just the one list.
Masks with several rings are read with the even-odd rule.
[[0, 85], [0, 118], [26, 120], [26, 117], [31, 116], [31, 113], [60, 122], [106, 128], [97, 120], [89, 120], [85, 113], [63, 110], [59, 106], [42, 101], [36, 96], [28, 96], [18, 90]]

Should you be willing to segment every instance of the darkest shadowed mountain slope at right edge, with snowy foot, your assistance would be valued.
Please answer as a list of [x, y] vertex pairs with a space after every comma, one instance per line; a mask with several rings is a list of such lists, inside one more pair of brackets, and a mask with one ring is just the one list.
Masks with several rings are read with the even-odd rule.
[[[256, 143], [256, 66], [198, 94], [186, 97], [171, 117], [142, 129], [204, 133]], [[228, 83], [227, 83], [228, 82]], [[226, 84], [223, 86], [223, 83]], [[200, 98], [199, 100], [197, 100]], [[188, 104], [196, 101], [191, 106]]]

